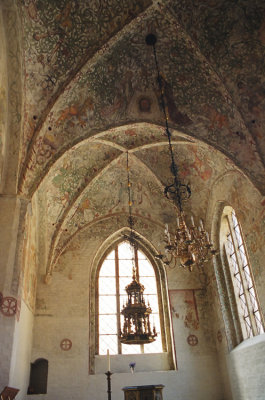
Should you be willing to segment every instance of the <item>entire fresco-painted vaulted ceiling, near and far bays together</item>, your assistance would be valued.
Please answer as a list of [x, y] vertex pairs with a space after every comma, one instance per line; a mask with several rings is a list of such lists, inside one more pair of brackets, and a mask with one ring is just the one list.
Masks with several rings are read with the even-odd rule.
[[81, 230], [127, 213], [127, 151], [134, 213], [158, 224], [175, 215], [163, 195], [169, 155], [153, 52], [145, 44], [150, 32], [158, 38], [180, 177], [192, 188], [189, 211], [206, 216], [212, 188], [229, 171], [265, 194], [262, 0], [17, 5], [24, 62], [18, 191], [39, 196], [47, 265]]

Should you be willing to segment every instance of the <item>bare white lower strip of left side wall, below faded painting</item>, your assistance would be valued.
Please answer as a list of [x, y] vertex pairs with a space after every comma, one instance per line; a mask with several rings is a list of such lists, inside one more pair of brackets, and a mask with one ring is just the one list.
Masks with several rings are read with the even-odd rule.
[[9, 375], [9, 386], [19, 388], [17, 400], [24, 399], [28, 389], [32, 327], [33, 314], [22, 300], [20, 318], [15, 322]]

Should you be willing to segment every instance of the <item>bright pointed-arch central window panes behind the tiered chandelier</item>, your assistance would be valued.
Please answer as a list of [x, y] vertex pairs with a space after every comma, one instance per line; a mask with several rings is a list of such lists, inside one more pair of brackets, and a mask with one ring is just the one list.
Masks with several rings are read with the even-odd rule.
[[125, 287], [132, 280], [132, 248], [128, 242], [121, 242], [102, 262], [98, 275], [98, 349], [97, 354], [140, 354], [160, 353], [163, 343], [160, 324], [161, 299], [154, 267], [139, 249], [135, 251], [137, 278], [144, 285], [146, 303], [152, 308], [151, 322], [157, 330], [153, 343], [127, 345], [118, 340], [123, 326], [121, 310], [127, 300]]

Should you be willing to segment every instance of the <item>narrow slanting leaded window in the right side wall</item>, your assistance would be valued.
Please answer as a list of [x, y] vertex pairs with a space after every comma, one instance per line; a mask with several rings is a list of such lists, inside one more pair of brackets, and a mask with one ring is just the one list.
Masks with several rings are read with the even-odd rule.
[[244, 339], [264, 333], [255, 282], [242, 229], [231, 207], [225, 207], [222, 241], [233, 283], [238, 315]]

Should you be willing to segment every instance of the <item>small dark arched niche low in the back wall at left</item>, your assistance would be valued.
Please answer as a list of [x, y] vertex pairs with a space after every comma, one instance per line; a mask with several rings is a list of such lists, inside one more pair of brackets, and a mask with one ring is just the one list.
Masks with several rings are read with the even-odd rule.
[[48, 381], [48, 360], [40, 358], [30, 366], [28, 394], [46, 394]]

